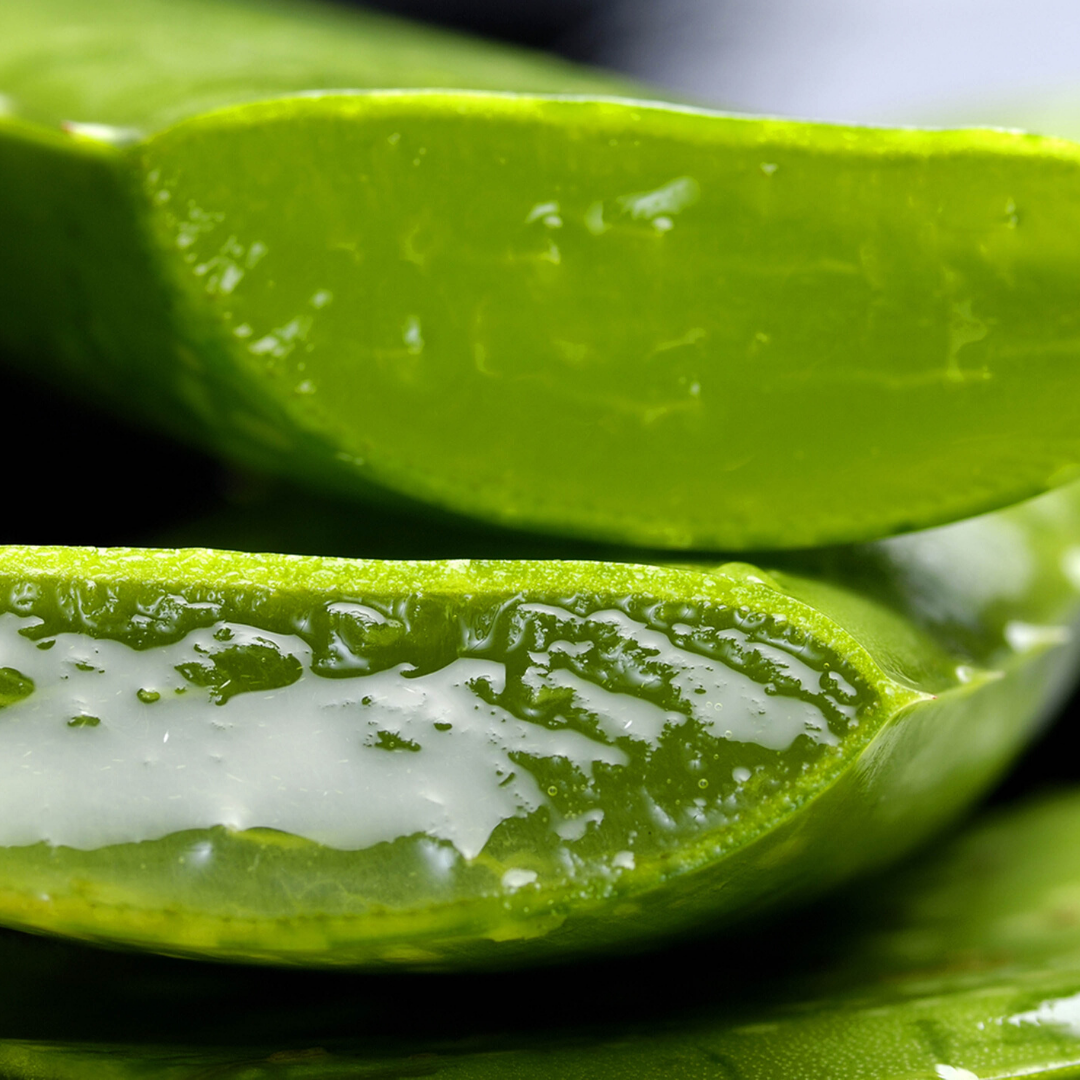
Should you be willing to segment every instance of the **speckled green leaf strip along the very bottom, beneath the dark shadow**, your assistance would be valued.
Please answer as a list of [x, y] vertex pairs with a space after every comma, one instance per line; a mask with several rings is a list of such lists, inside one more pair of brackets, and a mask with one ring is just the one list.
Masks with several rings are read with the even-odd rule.
[[[1040, 977], [1041, 976], [1041, 977]], [[1001, 985], [907, 1000], [804, 1001], [727, 1024], [643, 1024], [606, 1036], [569, 1030], [543, 1040], [461, 1040], [373, 1053], [342, 1045], [273, 1049], [0, 1042], [11, 1080], [350, 1080], [434, 1076], [447, 1080], [1075, 1080], [1080, 1076], [1076, 971], [1040, 972]], [[742, 1018], [742, 1017], [741, 1017]], [[486, 1042], [486, 1044], [485, 1044]], [[944, 1059], [943, 1059], [944, 1058]], [[963, 1064], [968, 1063], [972, 1067]], [[977, 1070], [977, 1071], [976, 1071]]]

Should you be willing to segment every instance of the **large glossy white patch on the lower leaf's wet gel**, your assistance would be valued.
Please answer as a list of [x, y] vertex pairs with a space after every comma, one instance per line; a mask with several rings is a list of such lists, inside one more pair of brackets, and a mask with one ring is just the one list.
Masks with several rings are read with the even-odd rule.
[[[2, 846], [96, 848], [226, 825], [342, 849], [426, 833], [471, 859], [500, 822], [546, 801], [512, 752], [562, 756], [586, 775], [595, 761], [625, 761], [618, 747], [485, 702], [473, 687], [504, 679], [492, 661], [461, 659], [416, 678], [403, 667], [322, 678], [299, 638], [233, 625], [229, 645], [272, 644], [305, 671], [291, 686], [215, 705], [176, 671], [205, 663], [197, 645], [221, 648], [211, 630], [143, 651], [60, 634], [42, 650], [16, 633], [35, 622], [0, 616], [0, 666], [37, 687], [0, 712]], [[161, 699], [145, 704], [140, 688]], [[69, 727], [75, 716], [100, 724]], [[378, 731], [420, 750], [380, 748]]]

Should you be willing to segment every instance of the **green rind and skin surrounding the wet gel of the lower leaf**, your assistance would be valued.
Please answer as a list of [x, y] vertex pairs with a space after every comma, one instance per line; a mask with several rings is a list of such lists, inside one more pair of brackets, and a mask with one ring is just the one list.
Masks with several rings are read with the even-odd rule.
[[[1069, 573], [1076, 571], [1080, 536], [1074, 512], [1070, 490], [942, 530], [946, 537], [958, 534], [961, 542], [941, 541], [936, 562], [924, 568], [929, 577], [912, 584], [912, 558], [904, 564], [907, 578], [893, 575], [907, 610], [895, 597], [890, 608], [820, 577], [791, 571], [771, 577], [742, 564], [702, 572], [630, 564], [394, 564], [203, 551], [8, 549], [5, 593], [16, 586], [26, 595], [25, 586], [37, 583], [45, 596], [59, 585], [56, 595], [66, 597], [62, 607], [81, 612], [71, 622], [70, 615], [56, 616], [53, 602], [31, 596], [15, 604], [24, 613], [40, 607], [50, 633], [67, 625], [97, 636], [122, 634], [132, 612], [151, 610], [162, 592], [214, 600], [217, 606], [206, 616], [212, 623], [228, 619], [270, 630], [295, 626], [305, 612], [340, 598], [468, 596], [471, 605], [519, 595], [589, 594], [609, 597], [603, 603], [611, 605], [621, 603], [619, 597], [678, 599], [702, 610], [717, 604], [741, 609], [748, 624], [757, 618], [754, 612], [782, 617], [826, 656], [842, 658], [849, 677], [873, 688], [878, 704], [845, 735], [838, 755], [826, 756], [798, 785], [783, 788], [782, 799], [762, 796], [738, 827], [687, 837], [643, 855], [615, 878], [586, 875], [572, 888], [541, 885], [361, 916], [339, 902], [333, 908], [308, 902], [275, 907], [278, 891], [264, 890], [261, 879], [244, 869], [259, 853], [264, 873], [274, 881], [310, 882], [314, 874], [321, 881], [340, 875], [346, 882], [354, 875], [346, 853], [307, 841], [270, 842], [257, 831], [215, 835], [228, 864], [224, 876], [205, 885], [184, 878], [170, 883], [165, 867], [199, 838], [177, 834], [131, 850], [121, 846], [108, 859], [104, 851], [100, 858], [71, 851], [42, 862], [33, 848], [9, 849], [4, 919], [179, 954], [436, 968], [642, 947], [703, 922], [744, 918], [806, 899], [883, 865], [954, 818], [993, 781], [1067, 684], [1072, 650], [1064, 643], [1077, 609]], [[1001, 543], [1005, 532], [1011, 550]], [[927, 542], [913, 537], [892, 543]], [[942, 551], [951, 552], [951, 562], [940, 557]], [[969, 629], [982, 627], [976, 663], [971, 650], [935, 643], [934, 624], [947, 639], [948, 620], [935, 616], [924, 586], [936, 581], [941, 599], [951, 584], [956, 599], [955, 581], [963, 568], [987, 559], [995, 576], [976, 575], [969, 584], [982, 592], [960, 597]], [[902, 563], [897, 558], [896, 565]], [[1026, 576], [1018, 592], [1017, 575]], [[813, 604], [799, 595], [812, 596]], [[919, 618], [931, 632], [917, 625]], [[181, 630], [170, 633], [183, 636]], [[650, 782], [661, 779], [658, 774]], [[140, 862], [148, 869], [133, 877], [130, 869]], [[149, 868], [159, 862], [160, 869]]]

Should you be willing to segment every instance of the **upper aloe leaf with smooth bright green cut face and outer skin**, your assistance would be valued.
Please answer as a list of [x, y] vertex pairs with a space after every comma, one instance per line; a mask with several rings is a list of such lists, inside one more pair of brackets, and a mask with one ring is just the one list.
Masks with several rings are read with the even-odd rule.
[[292, 11], [5, 5], [9, 351], [307, 483], [671, 549], [1076, 474], [1075, 145], [339, 92], [608, 84]]

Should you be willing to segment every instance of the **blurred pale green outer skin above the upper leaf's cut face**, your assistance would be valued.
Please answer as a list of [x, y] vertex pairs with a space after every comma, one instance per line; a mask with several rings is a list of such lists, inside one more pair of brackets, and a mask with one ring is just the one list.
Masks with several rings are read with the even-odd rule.
[[0, 11], [0, 42], [10, 112], [46, 127], [104, 124], [120, 139], [302, 91], [640, 90], [540, 53], [288, 0], [103, 0], [92, 9], [80, 0], [12, 0]]

